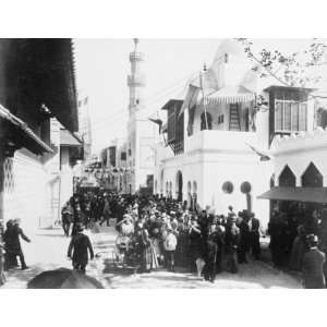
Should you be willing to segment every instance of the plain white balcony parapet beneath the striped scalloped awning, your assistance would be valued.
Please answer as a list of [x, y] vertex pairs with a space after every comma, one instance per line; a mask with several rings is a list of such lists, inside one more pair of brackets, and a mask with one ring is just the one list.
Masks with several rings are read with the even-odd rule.
[[251, 152], [246, 145], [256, 146], [254, 132], [204, 130], [185, 140], [185, 153], [201, 152]]

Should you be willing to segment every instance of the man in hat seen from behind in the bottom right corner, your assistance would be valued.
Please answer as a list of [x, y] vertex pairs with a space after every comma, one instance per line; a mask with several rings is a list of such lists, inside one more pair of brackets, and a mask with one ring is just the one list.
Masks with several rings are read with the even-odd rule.
[[305, 289], [324, 289], [324, 263], [325, 254], [318, 250], [318, 237], [308, 234], [306, 241], [310, 250], [302, 261], [303, 283]]

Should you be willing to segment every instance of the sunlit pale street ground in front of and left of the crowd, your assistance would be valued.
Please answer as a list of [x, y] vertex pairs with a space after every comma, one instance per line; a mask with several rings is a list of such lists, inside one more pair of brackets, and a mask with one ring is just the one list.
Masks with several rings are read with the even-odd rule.
[[[238, 275], [222, 272], [216, 282], [198, 280], [192, 274], [168, 272], [165, 270], [143, 275], [122, 275], [110, 268], [111, 249], [116, 239], [113, 228], [101, 228], [89, 233], [97, 257], [87, 267], [87, 274], [97, 278], [106, 288], [223, 288], [223, 289], [276, 289], [302, 288], [299, 280], [274, 269], [268, 264], [254, 262], [240, 266]], [[28, 270], [11, 270], [2, 288], [26, 288], [26, 282], [40, 271], [59, 267], [71, 267], [66, 259], [69, 239], [62, 231], [39, 230], [31, 235], [32, 243], [23, 242]]]

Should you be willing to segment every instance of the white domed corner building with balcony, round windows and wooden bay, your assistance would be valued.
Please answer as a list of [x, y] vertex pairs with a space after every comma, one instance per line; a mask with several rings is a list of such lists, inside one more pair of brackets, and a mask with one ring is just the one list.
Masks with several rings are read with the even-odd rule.
[[261, 80], [252, 68], [243, 48], [225, 40], [213, 64], [187, 82], [186, 96], [162, 107], [167, 144], [157, 145], [156, 194], [217, 214], [247, 208], [268, 221], [269, 203], [257, 196], [270, 187], [274, 162], [255, 150], [267, 152], [276, 134], [313, 129], [313, 104], [310, 89]]

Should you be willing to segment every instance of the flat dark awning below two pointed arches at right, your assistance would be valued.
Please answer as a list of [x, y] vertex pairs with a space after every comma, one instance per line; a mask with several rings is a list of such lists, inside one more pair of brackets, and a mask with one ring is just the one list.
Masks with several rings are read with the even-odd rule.
[[327, 204], [327, 187], [275, 186], [257, 198]]

